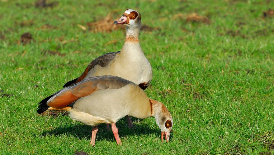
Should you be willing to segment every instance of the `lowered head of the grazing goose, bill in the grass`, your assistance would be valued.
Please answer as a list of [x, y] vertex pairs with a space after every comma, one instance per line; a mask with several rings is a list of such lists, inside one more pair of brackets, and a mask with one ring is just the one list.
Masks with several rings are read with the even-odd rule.
[[153, 115], [156, 119], [156, 123], [161, 129], [161, 138], [163, 142], [163, 136], [165, 136], [166, 142], [169, 141], [170, 131], [173, 125], [173, 119], [168, 111], [168, 109], [163, 105], [163, 103], [149, 99], [150, 103], [152, 104], [152, 111]]

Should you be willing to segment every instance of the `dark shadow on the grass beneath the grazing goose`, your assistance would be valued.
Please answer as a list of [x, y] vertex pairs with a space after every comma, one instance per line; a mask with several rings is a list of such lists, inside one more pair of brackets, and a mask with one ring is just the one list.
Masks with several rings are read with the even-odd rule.
[[[139, 119], [132, 118], [132, 122], [134, 124], [133, 128], [128, 128], [127, 122], [125, 118], [122, 118], [120, 121], [116, 123], [116, 127], [119, 130], [119, 136], [125, 137], [128, 135], [146, 135], [146, 134], [155, 134], [161, 136], [161, 131], [150, 128], [147, 124], [135, 124]], [[111, 125], [110, 125], [111, 128]], [[60, 126], [53, 130], [44, 131], [40, 136], [44, 137], [46, 135], [73, 135], [78, 139], [91, 139], [92, 126], [78, 124], [72, 126]], [[98, 132], [96, 135], [97, 141], [102, 139], [106, 139], [108, 141], [113, 141], [114, 136], [110, 129], [110, 131], [106, 130], [105, 124], [100, 124], [98, 126]]]

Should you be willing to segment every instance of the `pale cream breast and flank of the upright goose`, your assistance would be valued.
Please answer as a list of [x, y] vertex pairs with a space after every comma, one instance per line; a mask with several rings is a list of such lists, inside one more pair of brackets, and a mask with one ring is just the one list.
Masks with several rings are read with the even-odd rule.
[[108, 66], [101, 67], [100, 65], [96, 65], [88, 72], [85, 78], [101, 75], [118, 76], [139, 85], [140, 83], [151, 81], [152, 68], [139, 42], [125, 42], [120, 55]]

